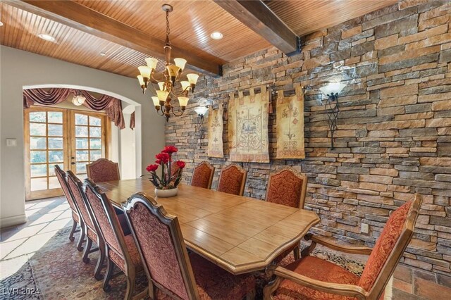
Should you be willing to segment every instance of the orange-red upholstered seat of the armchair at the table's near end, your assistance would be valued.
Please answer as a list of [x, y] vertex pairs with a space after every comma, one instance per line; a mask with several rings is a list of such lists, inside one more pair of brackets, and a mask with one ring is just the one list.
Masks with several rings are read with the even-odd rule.
[[[324, 282], [357, 285], [360, 280], [357, 275], [350, 273], [339, 265], [335, 265], [334, 263], [324, 261], [323, 259], [314, 256], [300, 258], [298, 261], [287, 265], [286, 268], [298, 274]], [[350, 300], [354, 298], [320, 292], [316, 289], [304, 287], [303, 285], [297, 285], [295, 282], [285, 279], [280, 282], [279, 288], [274, 294], [273, 299]]]

